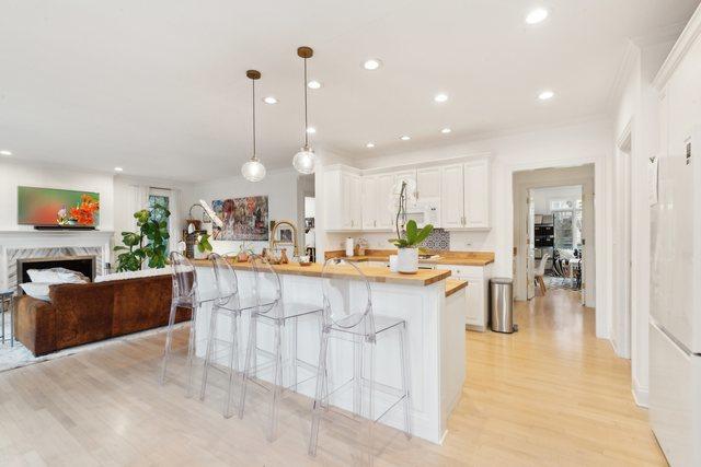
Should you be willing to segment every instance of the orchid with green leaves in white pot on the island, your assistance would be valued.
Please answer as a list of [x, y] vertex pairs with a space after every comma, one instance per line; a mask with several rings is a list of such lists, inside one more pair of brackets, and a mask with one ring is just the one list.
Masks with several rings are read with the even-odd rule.
[[434, 230], [432, 224], [426, 224], [423, 229], [418, 229], [416, 221], [413, 219], [406, 221], [406, 202], [412, 190], [407, 180], [401, 182], [398, 187], [399, 198], [397, 203], [397, 238], [389, 242], [397, 246], [397, 270], [405, 275], [413, 275], [418, 271], [418, 245], [425, 241]]

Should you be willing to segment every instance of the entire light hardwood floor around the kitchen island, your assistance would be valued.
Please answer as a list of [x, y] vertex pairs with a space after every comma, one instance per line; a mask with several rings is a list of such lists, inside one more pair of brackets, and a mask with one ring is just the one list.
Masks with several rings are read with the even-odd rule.
[[[594, 337], [568, 291], [516, 306], [518, 334], [468, 332], [468, 377], [443, 446], [376, 430], [376, 465], [664, 465], [630, 390], [630, 363]], [[184, 331], [177, 346], [185, 348]], [[332, 413], [307, 456], [309, 401], [288, 397], [265, 441], [265, 395], [223, 419], [223, 377], [205, 402], [157, 384], [163, 336], [119, 341], [0, 374], [0, 465], [352, 465], [355, 421]], [[174, 367], [174, 370], [176, 370]], [[212, 373], [212, 375], [216, 372]], [[184, 378], [181, 378], [181, 381]]]

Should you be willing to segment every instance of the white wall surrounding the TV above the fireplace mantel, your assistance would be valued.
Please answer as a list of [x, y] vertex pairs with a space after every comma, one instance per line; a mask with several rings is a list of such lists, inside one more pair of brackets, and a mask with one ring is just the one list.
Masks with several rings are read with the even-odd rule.
[[33, 230], [31, 225], [18, 225], [18, 186], [99, 192], [99, 229], [114, 230], [112, 174], [0, 157], [0, 230]]

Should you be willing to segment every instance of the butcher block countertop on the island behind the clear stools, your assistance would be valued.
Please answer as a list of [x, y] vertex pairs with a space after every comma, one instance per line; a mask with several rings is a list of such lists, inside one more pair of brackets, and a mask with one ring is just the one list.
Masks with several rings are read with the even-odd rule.
[[[194, 266], [211, 267], [211, 261], [208, 259], [191, 259]], [[251, 270], [253, 267], [250, 262], [230, 262], [233, 269]], [[321, 277], [321, 270], [323, 265], [311, 264], [310, 266], [299, 266], [296, 262], [288, 265], [275, 265], [273, 268], [278, 275], [295, 275], [307, 277]], [[368, 278], [370, 282], [384, 282], [395, 283], [403, 285], [430, 285], [439, 282], [450, 276], [449, 270], [441, 269], [420, 269], [415, 275], [400, 275], [399, 272], [390, 272], [388, 268], [363, 268], [363, 273]], [[333, 275], [338, 278], [355, 279], [358, 277], [357, 271], [349, 266], [336, 266], [333, 269]]]

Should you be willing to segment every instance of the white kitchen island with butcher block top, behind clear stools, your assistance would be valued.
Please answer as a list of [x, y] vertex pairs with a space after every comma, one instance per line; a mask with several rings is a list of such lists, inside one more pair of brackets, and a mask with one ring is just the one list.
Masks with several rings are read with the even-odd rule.
[[[203, 296], [214, 292], [214, 270], [207, 260], [194, 260], [197, 269], [198, 288]], [[250, 264], [232, 262], [239, 280], [242, 295], [252, 293], [254, 277]], [[321, 265], [299, 266], [297, 264], [275, 266], [280, 277], [283, 300], [314, 304], [322, 306]], [[440, 443], [446, 434], [447, 421], [450, 412], [458, 402], [464, 381], [464, 293], [466, 281], [447, 279], [449, 270], [420, 270], [416, 275], [400, 275], [390, 272], [387, 268], [366, 267], [363, 272], [370, 282], [372, 310], [376, 314], [399, 317], [406, 320], [407, 348], [410, 362], [410, 392], [412, 395], [412, 425], [416, 436], [434, 443]], [[364, 287], [358, 280], [357, 272], [348, 267], [336, 267], [333, 272], [337, 278], [347, 280], [347, 291], [353, 295], [354, 290]], [[206, 330], [210, 307], [204, 306], [197, 319], [197, 354], [205, 353]], [[243, 349], [248, 335], [248, 316], [239, 327], [239, 339]], [[227, 319], [221, 317], [220, 319]], [[227, 339], [228, 323], [218, 323], [218, 337]], [[271, 341], [272, 328], [258, 326], [258, 343], [264, 348]], [[286, 345], [295, 346], [297, 358], [309, 367], [309, 375], [319, 360], [320, 327], [319, 320], [311, 317], [300, 320], [297, 325], [297, 339], [290, 339]], [[378, 386], [386, 385], [401, 387], [398, 335], [387, 332], [378, 339], [376, 350], [376, 381]], [[330, 376], [343, 380], [352, 374], [353, 352], [344, 348], [345, 342], [330, 343]], [[288, 353], [290, 354], [290, 353]], [[226, 362], [226, 355], [217, 355], [220, 363]], [[243, 352], [240, 352], [240, 367], [243, 366]], [[262, 378], [266, 378], [264, 375]], [[301, 376], [297, 376], [301, 378]], [[314, 382], [299, 384], [297, 390], [313, 397]], [[333, 387], [333, 382], [332, 382]], [[381, 395], [376, 397], [376, 413], [382, 413], [383, 400]], [[332, 399], [333, 405], [344, 409], [350, 408], [350, 398]], [[401, 405], [390, 410], [380, 422], [403, 428]]]

